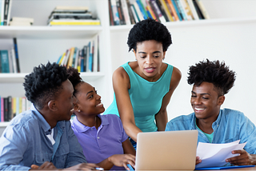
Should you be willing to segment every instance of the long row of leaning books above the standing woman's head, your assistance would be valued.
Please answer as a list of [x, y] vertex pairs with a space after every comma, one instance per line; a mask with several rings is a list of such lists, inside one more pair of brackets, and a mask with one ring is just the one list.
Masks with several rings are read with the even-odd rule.
[[201, 0], [108, 0], [110, 26], [130, 25], [146, 18], [158, 22], [210, 19]]

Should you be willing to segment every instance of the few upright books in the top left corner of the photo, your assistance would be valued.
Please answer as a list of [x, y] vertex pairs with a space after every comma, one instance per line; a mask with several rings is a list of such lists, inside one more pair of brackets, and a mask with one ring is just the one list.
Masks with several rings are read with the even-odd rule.
[[8, 26], [10, 22], [10, 9], [13, 0], [0, 0], [0, 25]]

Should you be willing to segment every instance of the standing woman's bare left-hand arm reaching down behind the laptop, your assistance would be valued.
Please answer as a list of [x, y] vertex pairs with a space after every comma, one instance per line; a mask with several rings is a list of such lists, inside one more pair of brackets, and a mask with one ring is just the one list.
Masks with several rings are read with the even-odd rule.
[[123, 128], [129, 137], [137, 141], [137, 134], [142, 132], [142, 130], [138, 129], [135, 125], [134, 110], [128, 92], [128, 89], [130, 89], [130, 78], [122, 67], [114, 71], [113, 87]]

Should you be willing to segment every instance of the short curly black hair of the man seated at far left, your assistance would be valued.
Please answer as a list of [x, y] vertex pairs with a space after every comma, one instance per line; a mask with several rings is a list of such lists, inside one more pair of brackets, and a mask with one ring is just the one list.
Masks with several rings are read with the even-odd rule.
[[48, 62], [46, 65], [34, 67], [31, 74], [26, 75], [23, 83], [26, 98], [38, 109], [54, 97], [58, 97], [62, 82], [68, 78], [65, 66]]

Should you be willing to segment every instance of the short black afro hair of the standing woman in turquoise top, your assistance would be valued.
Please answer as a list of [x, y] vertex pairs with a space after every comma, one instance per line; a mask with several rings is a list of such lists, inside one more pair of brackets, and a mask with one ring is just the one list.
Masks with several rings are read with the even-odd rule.
[[127, 44], [129, 51], [136, 52], [139, 42], [155, 40], [162, 42], [162, 49], [165, 52], [170, 44], [172, 44], [169, 30], [162, 23], [155, 21], [152, 18], [147, 18], [141, 22], [136, 23], [130, 30]]

